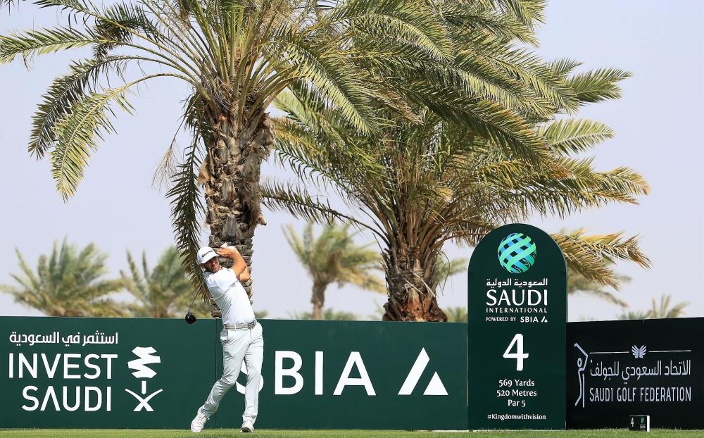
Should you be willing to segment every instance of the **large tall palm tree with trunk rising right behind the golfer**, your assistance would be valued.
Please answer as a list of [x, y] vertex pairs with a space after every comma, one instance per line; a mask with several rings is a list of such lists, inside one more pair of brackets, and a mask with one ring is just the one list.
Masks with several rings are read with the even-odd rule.
[[[15, 3], [0, 0], [0, 6]], [[190, 87], [182, 127], [192, 142], [182, 153], [172, 142], [156, 176], [169, 181], [177, 248], [197, 287], [201, 215], [210, 226], [209, 244], [234, 243], [251, 265], [255, 228], [265, 224], [260, 164], [274, 135], [267, 111], [279, 93], [308, 87], [353, 130], [372, 132], [377, 129], [372, 99], [387, 104], [400, 99], [384, 91], [383, 77], [358, 63], [406, 59], [411, 65], [421, 52], [440, 60], [448, 47], [437, 14], [423, 0], [33, 3], [56, 8], [64, 21], [0, 36], [0, 64], [18, 56], [29, 63], [34, 56], [92, 49], [49, 86], [30, 134], [30, 154], [48, 156], [64, 199], [75, 193], [99, 140], [115, 132], [115, 110], [133, 113], [130, 92], [161, 78]], [[402, 70], [399, 64], [396, 75]], [[245, 287], [251, 295], [251, 283]]]

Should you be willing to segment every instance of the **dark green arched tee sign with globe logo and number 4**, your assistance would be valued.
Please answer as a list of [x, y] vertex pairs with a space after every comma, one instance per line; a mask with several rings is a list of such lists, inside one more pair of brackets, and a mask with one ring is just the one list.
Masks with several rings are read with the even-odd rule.
[[567, 277], [553, 239], [499, 227], [472, 253], [468, 428], [564, 429]]

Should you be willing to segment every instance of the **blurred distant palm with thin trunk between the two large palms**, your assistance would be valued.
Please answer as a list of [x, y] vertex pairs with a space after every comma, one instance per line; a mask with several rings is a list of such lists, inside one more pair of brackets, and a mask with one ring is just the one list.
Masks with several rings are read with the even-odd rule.
[[368, 249], [369, 245], [357, 246], [355, 234], [349, 232], [350, 225], [330, 223], [323, 227], [316, 238], [313, 236], [313, 224], [308, 223], [299, 237], [294, 227], [285, 227], [284, 236], [294, 250], [298, 261], [306, 268], [308, 276], [313, 280], [313, 294], [310, 302], [313, 304], [311, 319], [322, 318], [322, 308], [325, 306], [325, 290], [337, 282], [338, 287], [354, 284], [363, 289], [384, 293], [384, 282], [372, 272], [381, 266], [381, 258], [377, 251]]

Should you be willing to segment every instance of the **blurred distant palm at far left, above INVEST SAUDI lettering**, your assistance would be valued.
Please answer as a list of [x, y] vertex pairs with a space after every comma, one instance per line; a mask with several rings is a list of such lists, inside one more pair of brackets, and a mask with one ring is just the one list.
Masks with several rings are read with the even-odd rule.
[[49, 316], [127, 316], [124, 306], [108, 298], [120, 292], [120, 280], [103, 280], [106, 254], [94, 244], [78, 249], [64, 239], [54, 242], [50, 256], [39, 256], [34, 272], [15, 249], [23, 275], [11, 274], [18, 285], [0, 285], [0, 292]]

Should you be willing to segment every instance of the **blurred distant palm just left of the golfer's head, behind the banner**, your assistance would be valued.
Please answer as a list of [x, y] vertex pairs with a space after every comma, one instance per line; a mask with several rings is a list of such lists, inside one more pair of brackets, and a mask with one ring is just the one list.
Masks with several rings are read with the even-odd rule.
[[[146, 254], [142, 254], [142, 272], [134, 263], [130, 251], [127, 251], [127, 263], [130, 265], [130, 275], [120, 271], [120, 276], [127, 292], [137, 299], [137, 304], [130, 306], [134, 316], [175, 318], [186, 313], [194, 289], [184, 275], [180, 254], [175, 247], [171, 246], [161, 254], [153, 270], [146, 263]], [[194, 303], [191, 311], [196, 315], [205, 315], [209, 308], [201, 300]]]

